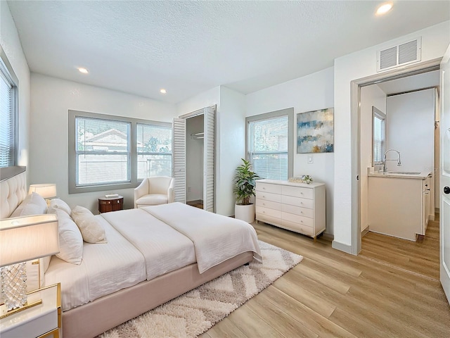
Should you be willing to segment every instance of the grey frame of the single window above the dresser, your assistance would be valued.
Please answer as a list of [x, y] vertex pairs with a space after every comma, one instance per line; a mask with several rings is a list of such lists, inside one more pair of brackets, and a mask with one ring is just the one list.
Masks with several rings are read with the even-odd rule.
[[245, 118], [245, 158], [251, 161], [249, 147], [249, 125], [252, 122], [270, 120], [271, 118], [279, 118], [288, 116], [288, 180], [293, 176], [294, 171], [294, 108], [285, 108], [279, 111], [271, 111], [269, 113], [262, 113], [252, 115]]

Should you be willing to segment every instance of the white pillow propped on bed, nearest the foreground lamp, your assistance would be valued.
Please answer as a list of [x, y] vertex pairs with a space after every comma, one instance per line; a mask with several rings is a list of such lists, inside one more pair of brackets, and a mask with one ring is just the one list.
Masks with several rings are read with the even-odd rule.
[[55, 209], [58, 216], [59, 253], [56, 257], [72, 264], [81, 264], [83, 258], [83, 237], [70, 215]]

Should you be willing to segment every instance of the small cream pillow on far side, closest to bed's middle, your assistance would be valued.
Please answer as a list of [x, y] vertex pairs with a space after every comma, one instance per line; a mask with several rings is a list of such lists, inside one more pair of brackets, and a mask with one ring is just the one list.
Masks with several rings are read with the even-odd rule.
[[75, 206], [72, 210], [72, 218], [82, 232], [84, 242], [106, 243], [105, 229], [89, 209]]

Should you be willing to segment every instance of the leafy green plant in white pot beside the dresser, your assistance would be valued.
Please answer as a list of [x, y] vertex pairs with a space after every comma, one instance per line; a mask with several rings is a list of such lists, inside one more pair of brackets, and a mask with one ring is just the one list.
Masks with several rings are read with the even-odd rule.
[[241, 159], [243, 164], [236, 168], [234, 177], [233, 192], [236, 194], [234, 217], [252, 223], [255, 220], [255, 205], [250, 203], [250, 198], [255, 196], [255, 179], [259, 176], [252, 171], [252, 164], [249, 161]]

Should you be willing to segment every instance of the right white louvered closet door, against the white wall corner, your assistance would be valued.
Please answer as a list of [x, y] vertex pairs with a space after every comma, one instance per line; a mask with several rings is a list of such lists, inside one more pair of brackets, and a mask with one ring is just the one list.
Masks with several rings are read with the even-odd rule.
[[215, 107], [203, 109], [203, 209], [214, 212], [214, 111]]

